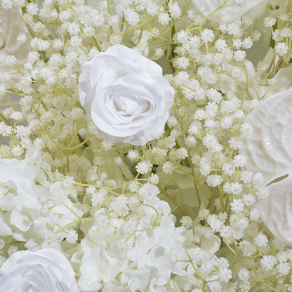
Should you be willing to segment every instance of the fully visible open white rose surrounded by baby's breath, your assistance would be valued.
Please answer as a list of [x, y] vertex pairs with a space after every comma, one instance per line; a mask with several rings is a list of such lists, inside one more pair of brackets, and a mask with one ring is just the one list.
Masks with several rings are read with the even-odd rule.
[[157, 63], [122, 45], [86, 62], [79, 77], [81, 105], [110, 142], [145, 145], [157, 138], [173, 95]]

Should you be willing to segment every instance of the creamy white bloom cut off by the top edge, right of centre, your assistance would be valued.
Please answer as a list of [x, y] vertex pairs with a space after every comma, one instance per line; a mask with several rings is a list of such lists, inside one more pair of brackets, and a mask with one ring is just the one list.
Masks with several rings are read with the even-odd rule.
[[[251, 18], [258, 18], [265, 11], [267, 0], [192, 0], [197, 10], [213, 22], [229, 23], [248, 13]], [[216, 11], [213, 13], [213, 11]]]

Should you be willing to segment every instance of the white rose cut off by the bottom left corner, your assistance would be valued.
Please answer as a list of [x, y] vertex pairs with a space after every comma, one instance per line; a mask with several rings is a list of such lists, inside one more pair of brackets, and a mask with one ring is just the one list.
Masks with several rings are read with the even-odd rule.
[[78, 292], [65, 255], [53, 248], [13, 253], [0, 269], [0, 291]]

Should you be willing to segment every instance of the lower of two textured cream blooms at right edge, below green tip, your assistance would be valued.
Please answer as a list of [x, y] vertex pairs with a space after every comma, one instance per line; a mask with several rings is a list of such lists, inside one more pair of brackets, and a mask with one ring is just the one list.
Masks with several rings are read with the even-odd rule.
[[269, 197], [257, 204], [258, 213], [275, 239], [292, 246], [292, 179], [281, 180], [268, 189]]

